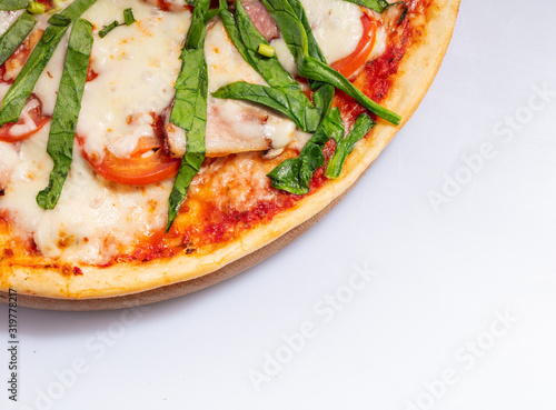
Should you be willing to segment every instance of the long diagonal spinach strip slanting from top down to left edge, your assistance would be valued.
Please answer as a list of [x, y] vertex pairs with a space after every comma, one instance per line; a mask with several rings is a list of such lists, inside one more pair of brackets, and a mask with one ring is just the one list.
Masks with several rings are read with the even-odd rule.
[[[95, 1], [76, 0], [60, 14], [62, 18], [76, 21]], [[21, 110], [33, 91], [34, 84], [67, 30], [68, 26], [49, 26], [47, 28], [2, 101], [0, 127], [19, 120]]]

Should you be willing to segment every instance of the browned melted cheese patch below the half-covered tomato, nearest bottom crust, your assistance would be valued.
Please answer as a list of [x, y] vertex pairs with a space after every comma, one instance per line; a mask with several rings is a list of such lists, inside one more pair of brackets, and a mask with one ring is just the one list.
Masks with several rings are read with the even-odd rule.
[[[142, 188], [95, 176], [77, 147], [58, 206], [41, 209], [37, 193], [48, 184], [49, 126], [21, 144], [19, 162], [1, 199], [17, 227], [32, 232], [38, 249], [69, 262], [106, 263], [140, 237], [163, 229], [172, 181]], [[3, 156], [2, 156], [3, 159]]]

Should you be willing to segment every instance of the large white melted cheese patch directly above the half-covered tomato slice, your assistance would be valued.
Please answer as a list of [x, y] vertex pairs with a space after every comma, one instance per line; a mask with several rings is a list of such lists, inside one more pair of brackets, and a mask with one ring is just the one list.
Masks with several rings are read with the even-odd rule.
[[99, 158], [105, 147], [128, 157], [140, 137], [153, 136], [145, 114], [160, 114], [173, 99], [181, 42], [191, 20], [189, 11], [165, 12], [129, 0], [97, 1], [83, 17], [102, 28], [128, 7], [137, 23], [95, 38], [91, 68], [98, 77], [86, 86], [78, 122], [86, 150]]

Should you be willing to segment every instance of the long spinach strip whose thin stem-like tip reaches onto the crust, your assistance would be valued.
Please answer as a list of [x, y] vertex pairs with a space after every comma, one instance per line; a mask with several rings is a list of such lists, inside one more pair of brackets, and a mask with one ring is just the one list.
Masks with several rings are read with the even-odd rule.
[[329, 83], [356, 99], [363, 107], [378, 117], [394, 124], [399, 124], [400, 116], [377, 104], [342, 74], [309, 56], [307, 32], [288, 0], [262, 0], [262, 2], [280, 28], [284, 39], [294, 54], [300, 76]]

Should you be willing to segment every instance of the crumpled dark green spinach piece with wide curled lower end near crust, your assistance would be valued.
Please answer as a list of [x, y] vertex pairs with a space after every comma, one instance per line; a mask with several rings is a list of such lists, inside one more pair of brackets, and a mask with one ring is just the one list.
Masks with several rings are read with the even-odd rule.
[[315, 171], [325, 164], [322, 147], [330, 138], [340, 140], [342, 137], [341, 114], [335, 107], [328, 111], [299, 157], [285, 160], [267, 176], [272, 187], [298, 196], [308, 193]]

